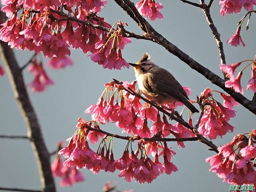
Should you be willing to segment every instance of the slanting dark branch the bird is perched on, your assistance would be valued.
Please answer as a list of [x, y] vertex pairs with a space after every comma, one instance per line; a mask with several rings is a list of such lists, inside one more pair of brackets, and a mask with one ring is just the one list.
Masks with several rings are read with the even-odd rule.
[[[116, 79], [113, 79], [116, 84], [122, 84], [120, 83], [119, 81], [117, 81]], [[201, 143], [204, 143], [206, 145], [208, 145], [210, 148], [212, 148], [213, 151], [217, 152], [218, 153], [218, 149], [217, 149], [217, 146], [214, 145], [211, 141], [207, 140], [207, 138], [205, 138], [204, 136], [202, 136], [195, 127], [192, 127], [191, 125], [189, 125], [188, 122], [184, 121], [182, 118], [179, 117], [176, 117], [176, 116], [173, 116], [171, 113], [169, 113], [168, 111], [165, 111], [163, 108], [161, 108], [160, 106], [156, 105], [155, 103], [149, 101], [148, 99], [145, 99], [143, 96], [141, 96], [140, 94], [136, 93], [134, 90], [128, 88], [126, 89], [125, 87], [122, 88], [123, 90], [127, 91], [128, 93], [134, 95], [134, 96], [137, 96], [139, 97], [140, 99], [142, 99], [143, 101], [149, 103], [150, 105], [154, 106], [155, 108], [157, 108], [157, 110], [159, 110], [160, 112], [172, 117], [172, 119], [174, 119], [175, 121], [179, 122], [181, 125], [183, 125], [184, 127], [190, 129], [191, 131], [193, 131], [196, 136], [198, 137], [199, 141]]]

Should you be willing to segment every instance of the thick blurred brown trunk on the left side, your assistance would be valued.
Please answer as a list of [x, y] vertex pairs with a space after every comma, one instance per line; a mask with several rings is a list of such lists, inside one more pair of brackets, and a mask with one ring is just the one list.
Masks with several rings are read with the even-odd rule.
[[55, 192], [55, 183], [52, 176], [49, 153], [41, 133], [36, 113], [30, 102], [22, 71], [15, 59], [12, 49], [7, 43], [0, 42], [1, 57], [6, 66], [6, 71], [11, 81], [15, 99], [27, 125], [28, 137], [35, 153], [38, 169], [41, 177], [41, 187], [44, 192]]

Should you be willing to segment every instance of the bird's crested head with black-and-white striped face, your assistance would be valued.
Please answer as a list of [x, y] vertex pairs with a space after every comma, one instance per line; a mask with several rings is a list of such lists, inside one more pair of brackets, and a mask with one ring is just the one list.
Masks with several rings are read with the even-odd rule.
[[134, 67], [135, 73], [141, 74], [146, 73], [148, 70], [153, 67], [157, 67], [154, 61], [150, 58], [148, 53], [145, 53], [142, 58], [137, 63], [129, 63], [132, 67]]

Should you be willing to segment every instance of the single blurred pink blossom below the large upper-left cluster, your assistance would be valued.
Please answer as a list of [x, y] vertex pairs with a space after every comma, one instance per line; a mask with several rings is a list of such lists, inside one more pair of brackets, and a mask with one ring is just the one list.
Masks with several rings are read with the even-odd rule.
[[49, 61], [47, 62], [47, 65], [52, 67], [53, 69], [61, 69], [61, 68], [67, 67], [68, 65], [72, 66], [73, 61], [70, 58], [68, 58], [66, 55], [63, 55], [63, 56], [50, 58]]

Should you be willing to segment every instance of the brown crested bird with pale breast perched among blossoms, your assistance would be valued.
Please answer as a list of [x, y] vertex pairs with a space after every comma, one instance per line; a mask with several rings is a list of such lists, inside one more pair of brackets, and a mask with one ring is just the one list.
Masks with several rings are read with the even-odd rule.
[[137, 63], [129, 63], [135, 71], [138, 87], [143, 95], [157, 104], [182, 102], [192, 113], [199, 112], [181, 84], [166, 69], [159, 67], [145, 53]]

